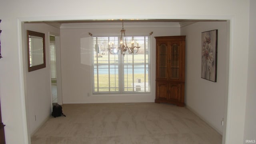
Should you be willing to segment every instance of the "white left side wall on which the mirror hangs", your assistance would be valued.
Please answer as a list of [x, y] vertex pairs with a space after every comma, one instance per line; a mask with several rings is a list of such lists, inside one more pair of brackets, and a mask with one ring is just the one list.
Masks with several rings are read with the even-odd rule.
[[[24, 36], [23, 61], [25, 76], [25, 96], [27, 106], [27, 120], [30, 134], [32, 134], [39, 126], [49, 118], [52, 112], [51, 82], [50, 82], [50, 48], [49, 48], [49, 32], [60, 33], [58, 28], [54, 28], [47, 24], [24, 24], [22, 31]], [[45, 34], [45, 55], [46, 68], [28, 72], [27, 64], [27, 42], [26, 30], [41, 32]], [[36, 116], [36, 120], [35, 120]]]

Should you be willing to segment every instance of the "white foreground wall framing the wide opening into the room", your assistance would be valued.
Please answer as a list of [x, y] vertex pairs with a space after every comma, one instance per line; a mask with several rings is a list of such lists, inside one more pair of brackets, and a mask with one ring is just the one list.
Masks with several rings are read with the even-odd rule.
[[[147, 4], [145, 4], [145, 2]], [[6, 143], [28, 143], [20, 21], [108, 19], [229, 19], [227, 144], [241, 144], [248, 77], [249, 0], [1, 0], [0, 98]], [[136, 10], [123, 6], [136, 4]], [[132, 7], [132, 6], [131, 6]], [[250, 30], [254, 30], [252, 28]], [[253, 110], [253, 108], [252, 108]], [[15, 137], [15, 138], [14, 138]]]

